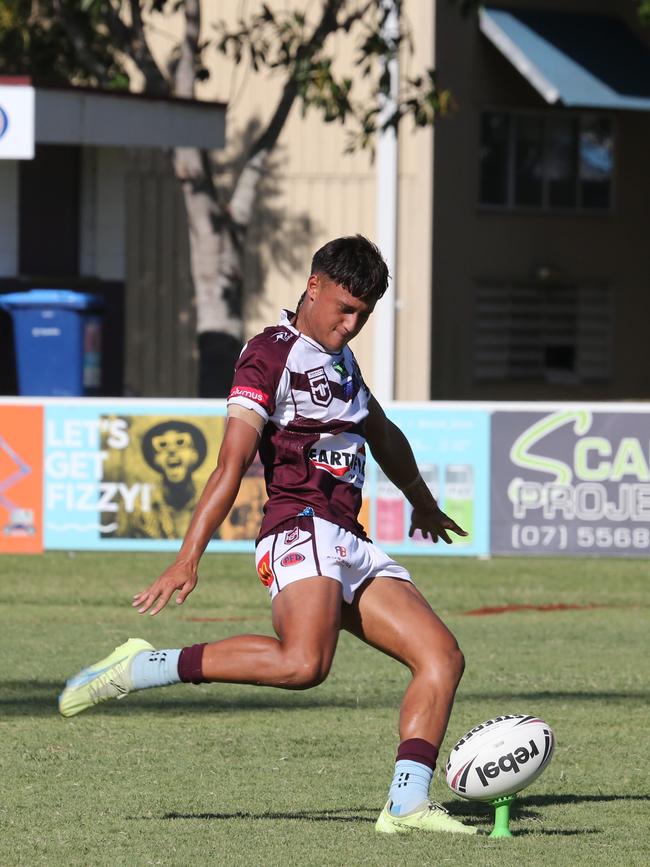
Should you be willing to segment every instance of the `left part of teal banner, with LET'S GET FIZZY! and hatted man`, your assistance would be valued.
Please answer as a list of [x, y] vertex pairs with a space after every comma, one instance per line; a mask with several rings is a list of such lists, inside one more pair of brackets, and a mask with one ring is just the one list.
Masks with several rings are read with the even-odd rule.
[[[225, 407], [207, 404], [172, 412], [137, 403], [48, 405], [46, 547], [177, 550], [216, 466], [224, 416]], [[215, 536], [218, 547], [250, 548], [264, 500], [256, 462]]]

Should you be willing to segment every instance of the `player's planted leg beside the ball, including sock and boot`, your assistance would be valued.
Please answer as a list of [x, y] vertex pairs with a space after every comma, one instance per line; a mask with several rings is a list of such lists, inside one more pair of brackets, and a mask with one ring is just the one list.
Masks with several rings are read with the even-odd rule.
[[464, 660], [455, 638], [410, 583], [378, 577], [343, 609], [343, 628], [404, 663], [413, 675], [400, 710], [400, 746], [388, 802], [376, 829], [476, 834], [429, 800], [438, 749]]

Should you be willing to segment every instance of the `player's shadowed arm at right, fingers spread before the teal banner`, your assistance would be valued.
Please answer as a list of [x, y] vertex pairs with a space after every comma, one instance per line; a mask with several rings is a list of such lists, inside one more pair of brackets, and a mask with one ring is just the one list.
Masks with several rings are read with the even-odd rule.
[[413, 506], [409, 536], [420, 530], [432, 542], [442, 539], [451, 545], [449, 532], [467, 536], [458, 524], [440, 509], [420, 475], [409, 441], [387, 416], [379, 403], [370, 398], [366, 419], [366, 440], [372, 456]]

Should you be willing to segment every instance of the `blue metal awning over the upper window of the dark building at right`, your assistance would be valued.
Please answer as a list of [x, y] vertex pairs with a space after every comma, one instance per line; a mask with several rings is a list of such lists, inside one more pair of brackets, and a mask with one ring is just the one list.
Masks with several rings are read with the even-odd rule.
[[650, 48], [618, 18], [486, 6], [479, 22], [546, 102], [650, 111]]

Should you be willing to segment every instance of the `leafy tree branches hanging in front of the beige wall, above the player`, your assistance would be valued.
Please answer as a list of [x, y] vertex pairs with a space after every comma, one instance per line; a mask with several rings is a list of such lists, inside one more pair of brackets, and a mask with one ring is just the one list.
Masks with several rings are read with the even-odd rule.
[[[280, 70], [294, 82], [303, 115], [317, 110], [326, 123], [350, 122], [347, 151], [371, 149], [378, 130], [397, 127], [405, 117], [416, 126], [427, 126], [451, 107], [448, 91], [440, 91], [435, 72], [406, 79], [395, 94], [395, 110], [386, 113], [391, 93], [389, 64], [401, 52], [412, 51], [408, 23], [401, 0], [327, 0], [318, 22], [308, 24], [302, 13], [273, 11], [264, 5], [234, 30], [222, 22], [217, 27], [217, 48], [235, 63], [248, 62], [258, 71]], [[391, 18], [395, 13], [397, 18]], [[396, 24], [399, 22], [399, 24]], [[332, 38], [344, 33], [354, 43], [354, 67], [336, 71]], [[363, 96], [357, 92], [363, 89]]]

